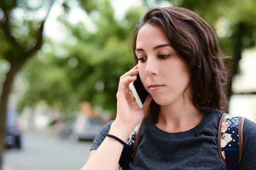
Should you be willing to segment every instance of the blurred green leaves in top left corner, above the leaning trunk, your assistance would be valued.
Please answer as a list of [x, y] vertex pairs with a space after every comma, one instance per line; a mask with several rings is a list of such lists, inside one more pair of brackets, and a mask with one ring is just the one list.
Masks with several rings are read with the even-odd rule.
[[[10, 63], [25, 60], [29, 52], [35, 48], [42, 32], [40, 26], [42, 10], [47, 10], [50, 0], [38, 2], [38, 6], [30, 1], [1, 0], [0, 1], [0, 57]], [[29, 17], [30, 16], [30, 17]], [[45, 16], [40, 16], [44, 18]], [[39, 43], [40, 44], [40, 43]]]

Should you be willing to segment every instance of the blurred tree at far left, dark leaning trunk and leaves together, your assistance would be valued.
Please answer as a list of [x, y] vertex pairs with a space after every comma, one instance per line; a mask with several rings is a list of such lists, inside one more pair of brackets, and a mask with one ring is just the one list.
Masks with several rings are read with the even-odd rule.
[[[4, 149], [6, 110], [9, 92], [17, 71], [24, 62], [32, 57], [43, 42], [44, 21], [46, 20], [52, 0], [38, 1], [38, 4], [22, 0], [0, 1], [0, 61], [9, 65], [3, 77], [0, 103], [0, 168]], [[43, 18], [29, 19], [39, 10], [48, 8]], [[3, 75], [3, 74], [2, 74]]]

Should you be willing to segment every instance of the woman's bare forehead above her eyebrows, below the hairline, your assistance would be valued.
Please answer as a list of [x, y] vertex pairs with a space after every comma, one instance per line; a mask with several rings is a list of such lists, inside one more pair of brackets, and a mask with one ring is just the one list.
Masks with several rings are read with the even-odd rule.
[[170, 44], [160, 27], [145, 24], [140, 28], [136, 41], [137, 48], [146, 48], [160, 44]]

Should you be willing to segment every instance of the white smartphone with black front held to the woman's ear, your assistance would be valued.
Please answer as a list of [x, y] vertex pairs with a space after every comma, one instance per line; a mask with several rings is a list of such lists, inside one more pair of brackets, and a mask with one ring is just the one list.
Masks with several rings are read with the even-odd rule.
[[144, 88], [140, 75], [137, 74], [137, 79], [134, 82], [131, 82], [129, 85], [129, 91], [134, 97], [135, 102], [137, 103], [139, 108], [143, 108], [144, 102], [148, 96], [148, 92]]

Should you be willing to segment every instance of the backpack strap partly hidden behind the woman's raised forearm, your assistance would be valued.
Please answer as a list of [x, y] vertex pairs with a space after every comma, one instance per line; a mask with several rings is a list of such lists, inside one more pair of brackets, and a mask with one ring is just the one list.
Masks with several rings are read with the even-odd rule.
[[131, 132], [129, 138], [126, 141], [126, 144], [122, 150], [121, 157], [119, 159], [119, 164], [122, 167], [122, 170], [128, 170], [129, 162], [134, 158], [136, 150], [139, 144], [140, 129], [142, 127], [143, 121], [134, 127], [134, 130]]

